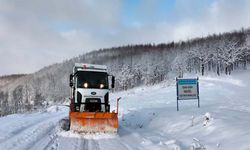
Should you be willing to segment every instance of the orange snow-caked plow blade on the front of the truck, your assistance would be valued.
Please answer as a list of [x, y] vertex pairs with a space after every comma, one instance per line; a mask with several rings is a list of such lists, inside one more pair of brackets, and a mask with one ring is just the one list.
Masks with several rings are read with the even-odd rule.
[[114, 112], [70, 112], [70, 130], [83, 133], [116, 133], [118, 116]]

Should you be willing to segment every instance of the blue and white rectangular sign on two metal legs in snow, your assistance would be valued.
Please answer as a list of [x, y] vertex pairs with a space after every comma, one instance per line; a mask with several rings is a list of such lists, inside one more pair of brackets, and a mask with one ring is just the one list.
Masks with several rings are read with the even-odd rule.
[[176, 93], [177, 111], [179, 111], [179, 100], [197, 99], [200, 107], [199, 78], [176, 78]]

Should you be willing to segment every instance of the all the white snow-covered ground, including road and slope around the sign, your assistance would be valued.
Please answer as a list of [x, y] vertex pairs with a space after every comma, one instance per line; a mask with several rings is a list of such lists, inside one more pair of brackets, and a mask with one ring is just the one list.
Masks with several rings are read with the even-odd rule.
[[173, 83], [115, 93], [112, 99], [122, 97], [116, 135], [62, 131], [58, 122], [68, 115], [62, 106], [2, 117], [0, 149], [185, 150], [193, 146], [249, 150], [249, 77], [249, 71], [201, 77], [201, 108], [197, 108], [197, 101], [181, 101], [179, 112]]

